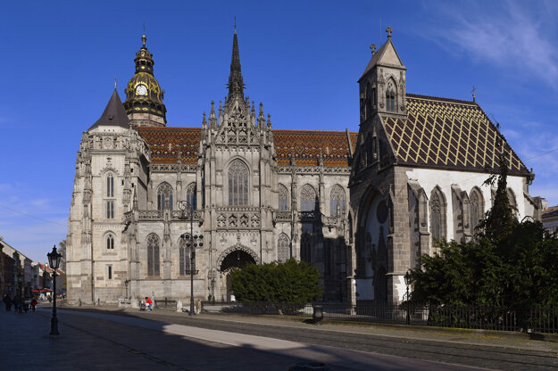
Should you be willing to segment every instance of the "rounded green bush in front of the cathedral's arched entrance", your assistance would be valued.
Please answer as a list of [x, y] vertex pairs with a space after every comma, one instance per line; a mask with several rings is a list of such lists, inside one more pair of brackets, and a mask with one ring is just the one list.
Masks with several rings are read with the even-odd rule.
[[318, 269], [294, 259], [285, 263], [248, 264], [230, 273], [231, 289], [238, 301], [265, 301], [274, 304], [304, 304], [319, 299], [319, 276]]

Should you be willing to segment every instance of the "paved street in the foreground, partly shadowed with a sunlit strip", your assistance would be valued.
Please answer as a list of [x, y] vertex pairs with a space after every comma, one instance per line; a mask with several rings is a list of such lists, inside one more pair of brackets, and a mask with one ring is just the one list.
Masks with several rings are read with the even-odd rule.
[[[487, 352], [461, 343], [455, 335], [446, 342], [433, 342], [367, 334], [374, 331], [370, 328], [318, 328], [257, 317], [191, 318], [162, 310], [62, 309], [59, 318], [62, 334], [51, 337], [48, 309], [27, 314], [1, 311], [0, 368], [279, 371], [304, 359], [326, 361], [332, 371], [473, 369], [452, 363], [506, 370], [556, 365], [556, 353], [550, 350], [500, 344], [498, 351]], [[463, 362], [468, 358], [473, 361]]]

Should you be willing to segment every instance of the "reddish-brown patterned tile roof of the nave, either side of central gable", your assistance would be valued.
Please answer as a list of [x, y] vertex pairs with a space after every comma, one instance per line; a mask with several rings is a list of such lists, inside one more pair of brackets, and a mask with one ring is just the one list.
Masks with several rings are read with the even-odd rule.
[[[153, 163], [176, 163], [181, 152], [182, 163], [195, 164], [199, 148], [200, 128], [139, 127], [152, 152]], [[353, 152], [357, 133], [350, 133]], [[278, 165], [290, 164], [293, 153], [296, 166], [316, 166], [322, 153], [328, 167], [349, 166], [349, 146], [345, 131], [273, 130]]]

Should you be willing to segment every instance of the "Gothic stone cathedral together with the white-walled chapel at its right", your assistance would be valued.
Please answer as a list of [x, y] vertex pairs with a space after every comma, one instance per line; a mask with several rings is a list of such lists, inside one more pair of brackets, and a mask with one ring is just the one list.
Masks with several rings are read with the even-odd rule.
[[231, 269], [293, 258], [320, 270], [324, 301], [402, 301], [421, 254], [471, 240], [500, 156], [517, 217], [540, 218], [534, 175], [474, 98], [406, 93], [391, 33], [358, 80], [358, 133], [272, 128], [236, 28], [225, 100], [201, 127], [167, 126], [142, 37], [124, 103], [115, 87], [79, 144], [68, 300], [189, 301], [192, 282], [196, 301], [229, 301]]

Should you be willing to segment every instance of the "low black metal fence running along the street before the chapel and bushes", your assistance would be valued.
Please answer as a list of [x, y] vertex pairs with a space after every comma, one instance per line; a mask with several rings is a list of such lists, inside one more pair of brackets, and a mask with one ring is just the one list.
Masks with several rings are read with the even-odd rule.
[[323, 317], [329, 320], [404, 325], [408, 310], [411, 325], [558, 333], [558, 308], [451, 307], [412, 301], [401, 304], [357, 301], [356, 305], [340, 302], [202, 302], [203, 310], [207, 312], [281, 316], [295, 320], [311, 318], [315, 305], [321, 305]]

